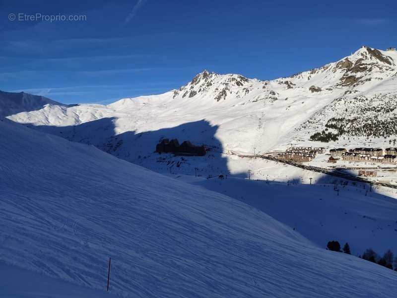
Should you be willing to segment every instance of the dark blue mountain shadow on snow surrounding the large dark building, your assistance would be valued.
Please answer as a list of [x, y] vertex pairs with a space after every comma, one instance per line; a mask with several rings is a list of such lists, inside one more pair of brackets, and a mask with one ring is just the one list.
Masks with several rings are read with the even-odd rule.
[[[76, 126], [33, 126], [39, 131], [57, 135], [66, 140], [93, 145], [118, 158], [150, 168], [157, 172], [195, 174], [191, 164], [198, 168], [198, 175], [211, 177], [230, 175], [245, 178], [246, 173], [229, 173], [227, 159], [222, 155], [224, 149], [216, 137], [217, 125], [206, 120], [184, 123], [176, 127], [152, 131], [128, 131], [117, 133], [116, 117], [102, 118]], [[175, 156], [172, 153], [156, 151], [156, 146], [165, 139], [177, 139], [180, 143], [190, 142], [193, 146], [205, 146], [204, 156]]]

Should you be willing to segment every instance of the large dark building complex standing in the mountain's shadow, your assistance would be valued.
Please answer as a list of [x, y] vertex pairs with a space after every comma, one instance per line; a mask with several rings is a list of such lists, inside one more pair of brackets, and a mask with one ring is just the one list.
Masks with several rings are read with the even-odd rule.
[[189, 141], [184, 141], [179, 145], [178, 139], [163, 139], [156, 145], [158, 153], [174, 153], [175, 155], [204, 156], [205, 146], [194, 146]]

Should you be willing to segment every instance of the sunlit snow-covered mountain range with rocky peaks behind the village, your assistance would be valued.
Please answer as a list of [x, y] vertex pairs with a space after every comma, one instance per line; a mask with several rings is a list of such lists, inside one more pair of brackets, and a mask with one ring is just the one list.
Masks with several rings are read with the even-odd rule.
[[[148, 132], [198, 121], [216, 128], [212, 137], [224, 150], [247, 153], [278, 149], [295, 140], [394, 138], [396, 62], [396, 51], [362, 47], [337, 62], [290, 77], [258, 80], [204, 71], [180, 89], [160, 95], [127, 98], [110, 105], [49, 102], [41, 109], [24, 109], [6, 116], [19, 123], [45, 126], [52, 133], [62, 132], [69, 140], [110, 148], [117, 156], [134, 162], [145, 152], [118, 146], [121, 141], [130, 141], [123, 134], [132, 132], [140, 138]], [[0, 98], [1, 110], [9, 105], [9, 100], [3, 99], [7, 96], [9, 93]], [[93, 121], [95, 124], [90, 124]], [[76, 125], [82, 127], [67, 131], [68, 126]], [[91, 125], [96, 132], [111, 131], [98, 137], [95, 132], [85, 132]], [[373, 126], [379, 127], [371, 130]], [[181, 137], [218, 146], [202, 134]], [[133, 143], [139, 146], [140, 141]]]

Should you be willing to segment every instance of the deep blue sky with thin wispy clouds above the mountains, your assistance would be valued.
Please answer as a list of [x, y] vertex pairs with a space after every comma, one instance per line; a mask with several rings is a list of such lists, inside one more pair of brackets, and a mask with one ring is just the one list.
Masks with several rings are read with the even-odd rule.
[[[397, 1], [0, 0], [0, 8], [0, 89], [64, 103], [162, 93], [204, 69], [271, 79], [362, 45], [397, 46]], [[36, 13], [86, 20], [23, 20]]]

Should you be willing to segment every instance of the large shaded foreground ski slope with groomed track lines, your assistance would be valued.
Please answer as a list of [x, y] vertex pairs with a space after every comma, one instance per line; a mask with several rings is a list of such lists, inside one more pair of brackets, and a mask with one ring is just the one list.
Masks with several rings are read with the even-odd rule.
[[0, 121], [0, 260], [125, 297], [394, 297], [397, 274], [230, 197]]

